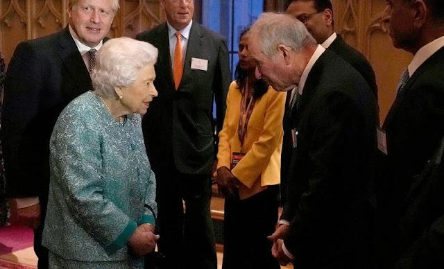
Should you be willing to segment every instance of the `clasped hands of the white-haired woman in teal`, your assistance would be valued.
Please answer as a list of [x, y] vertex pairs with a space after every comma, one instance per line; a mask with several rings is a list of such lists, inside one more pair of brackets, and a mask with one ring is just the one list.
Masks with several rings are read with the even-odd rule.
[[153, 234], [149, 229], [146, 225], [140, 225], [128, 239], [128, 245], [136, 257], [141, 257], [155, 249], [155, 243], [160, 236]]

